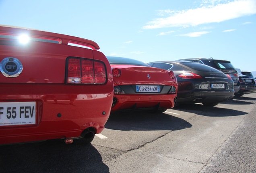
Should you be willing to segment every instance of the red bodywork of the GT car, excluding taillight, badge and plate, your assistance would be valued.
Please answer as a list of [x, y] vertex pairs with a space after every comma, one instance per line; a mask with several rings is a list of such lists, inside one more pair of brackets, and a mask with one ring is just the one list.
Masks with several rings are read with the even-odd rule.
[[[16, 36], [29, 34], [37, 39], [58, 41], [58, 44], [30, 41], [22, 45]], [[17, 77], [0, 75], [0, 111], [4, 104], [18, 102], [35, 103], [35, 123], [19, 124], [1, 121], [3, 116], [11, 119], [27, 117], [31, 109], [20, 107], [20, 114], [0, 112], [0, 144], [23, 143], [47, 139], [79, 137], [87, 129], [101, 133], [111, 111], [113, 101], [113, 77], [111, 66], [99, 46], [83, 38], [0, 26], [0, 61], [6, 57], [17, 58], [23, 70]], [[5, 37], [6, 35], [6, 37]], [[10, 36], [10, 37], [7, 37]], [[70, 46], [75, 43], [88, 48]], [[103, 84], [67, 83], [67, 58], [104, 64], [106, 80]], [[31, 108], [31, 107], [30, 107]], [[11, 111], [13, 108], [10, 108]], [[32, 116], [32, 114], [31, 114]], [[21, 122], [20, 122], [21, 123]], [[23, 122], [24, 123], [24, 122]]]

